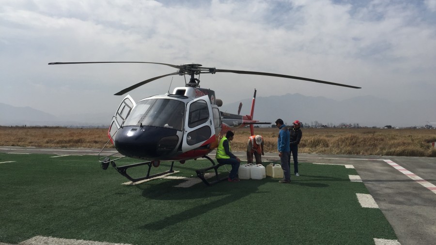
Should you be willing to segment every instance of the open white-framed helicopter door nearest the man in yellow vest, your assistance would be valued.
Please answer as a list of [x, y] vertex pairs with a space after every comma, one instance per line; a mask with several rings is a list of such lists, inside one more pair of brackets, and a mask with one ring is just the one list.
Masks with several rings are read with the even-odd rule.
[[215, 135], [214, 115], [207, 95], [187, 103], [182, 151], [200, 147]]

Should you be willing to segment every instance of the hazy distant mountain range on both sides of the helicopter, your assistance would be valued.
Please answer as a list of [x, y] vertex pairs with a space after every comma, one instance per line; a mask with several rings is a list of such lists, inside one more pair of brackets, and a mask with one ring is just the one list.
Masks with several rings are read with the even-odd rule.
[[[252, 99], [241, 100], [241, 115], [249, 114]], [[221, 111], [237, 113], [239, 102], [226, 104]], [[31, 107], [15, 107], [0, 103], [0, 125], [28, 126], [108, 126], [112, 115], [93, 113], [55, 116]], [[436, 100], [391, 102], [374, 96], [361, 96], [336, 101], [325, 97], [310, 97], [301, 94], [286, 94], [256, 98], [254, 118], [271, 122], [277, 118], [291, 124], [299, 120], [313, 125], [359, 124], [367, 127], [423, 126], [436, 120]]]

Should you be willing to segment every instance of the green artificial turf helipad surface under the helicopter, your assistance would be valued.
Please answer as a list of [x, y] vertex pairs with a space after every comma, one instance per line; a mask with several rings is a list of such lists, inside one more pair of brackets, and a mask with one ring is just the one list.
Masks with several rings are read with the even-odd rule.
[[[374, 244], [374, 238], [397, 239], [379, 209], [359, 205], [356, 193], [369, 192], [363, 183], [350, 182], [348, 174], [356, 175], [356, 170], [343, 166], [300, 163], [301, 176], [292, 176], [292, 184], [267, 177], [181, 188], [174, 186], [186, 180], [122, 185], [128, 180], [112, 167], [101, 170], [96, 156], [52, 157], [0, 153], [0, 162], [16, 161], [0, 163], [0, 243], [17, 244], [38, 235], [126, 244]], [[196, 177], [196, 169], [209, 165], [204, 159], [177, 162], [174, 170], [180, 172], [171, 176]], [[162, 163], [153, 173], [169, 166]]]

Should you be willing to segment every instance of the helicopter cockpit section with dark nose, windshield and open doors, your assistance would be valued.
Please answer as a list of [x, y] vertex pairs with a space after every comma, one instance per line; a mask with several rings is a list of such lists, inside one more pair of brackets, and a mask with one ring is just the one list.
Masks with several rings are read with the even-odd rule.
[[215, 141], [215, 129], [219, 132], [221, 126], [217, 107], [207, 95], [156, 95], [138, 103], [127, 96], [112, 120], [109, 137], [127, 157], [171, 159]]

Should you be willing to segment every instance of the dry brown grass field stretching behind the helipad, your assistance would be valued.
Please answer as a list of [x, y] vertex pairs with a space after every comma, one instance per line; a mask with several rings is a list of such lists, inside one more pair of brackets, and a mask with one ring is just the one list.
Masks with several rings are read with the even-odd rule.
[[[299, 152], [317, 154], [436, 157], [436, 130], [427, 129], [302, 129]], [[265, 152], [277, 151], [279, 130], [256, 128], [265, 139]], [[60, 127], [0, 127], [0, 145], [102, 148], [107, 129]], [[245, 151], [249, 129], [235, 131], [232, 149]]]

